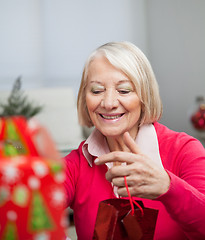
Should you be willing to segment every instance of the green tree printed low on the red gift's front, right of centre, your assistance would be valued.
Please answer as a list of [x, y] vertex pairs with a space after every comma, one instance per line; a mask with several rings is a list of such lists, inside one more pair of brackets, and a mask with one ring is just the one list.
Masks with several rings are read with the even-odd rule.
[[38, 191], [33, 192], [30, 206], [30, 219], [29, 229], [32, 232], [54, 229], [54, 223], [51, 219], [51, 215], [48, 213], [46, 205], [43, 202], [43, 198]]

